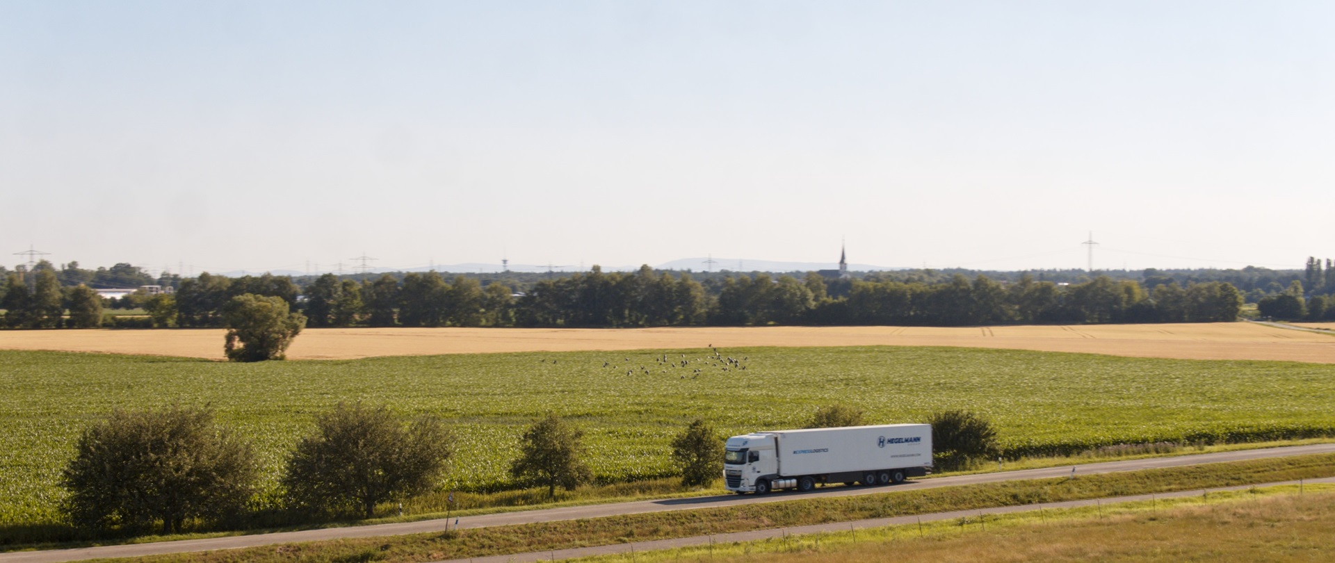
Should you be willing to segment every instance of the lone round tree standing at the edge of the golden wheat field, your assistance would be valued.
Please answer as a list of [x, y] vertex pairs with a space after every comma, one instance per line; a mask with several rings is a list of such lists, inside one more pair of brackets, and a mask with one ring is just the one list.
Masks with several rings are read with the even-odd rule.
[[287, 347], [306, 327], [306, 316], [288, 312], [283, 298], [238, 295], [223, 308], [227, 343], [223, 350], [232, 362], [286, 359]]

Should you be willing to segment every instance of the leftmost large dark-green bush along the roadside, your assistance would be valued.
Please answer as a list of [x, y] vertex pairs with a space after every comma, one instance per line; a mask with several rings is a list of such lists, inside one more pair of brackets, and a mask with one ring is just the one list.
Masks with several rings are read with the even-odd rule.
[[208, 410], [113, 411], [84, 430], [60, 482], [76, 526], [182, 531], [187, 519], [240, 514], [259, 466]]

